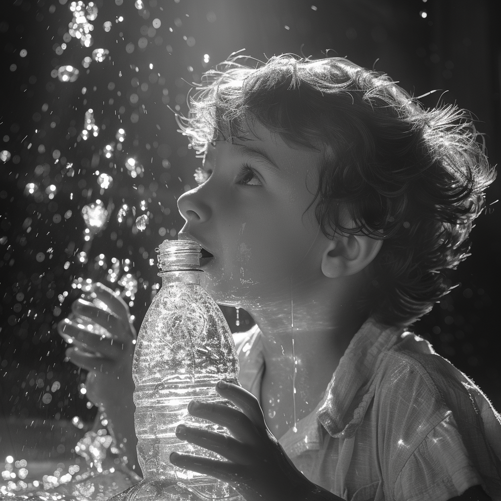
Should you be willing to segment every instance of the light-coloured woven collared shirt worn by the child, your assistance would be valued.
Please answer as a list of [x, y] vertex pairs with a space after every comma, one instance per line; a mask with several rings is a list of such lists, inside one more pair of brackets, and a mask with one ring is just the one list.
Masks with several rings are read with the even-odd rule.
[[[257, 326], [234, 335], [240, 384], [261, 401]], [[501, 500], [501, 417], [423, 338], [368, 319], [315, 410], [279, 439], [297, 468], [351, 501]]]

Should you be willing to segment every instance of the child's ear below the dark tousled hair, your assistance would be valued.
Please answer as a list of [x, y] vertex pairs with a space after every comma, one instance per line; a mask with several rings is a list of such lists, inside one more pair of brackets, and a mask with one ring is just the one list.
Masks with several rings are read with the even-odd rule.
[[377, 256], [382, 244], [367, 235], [335, 237], [324, 250], [322, 273], [329, 278], [355, 275]]

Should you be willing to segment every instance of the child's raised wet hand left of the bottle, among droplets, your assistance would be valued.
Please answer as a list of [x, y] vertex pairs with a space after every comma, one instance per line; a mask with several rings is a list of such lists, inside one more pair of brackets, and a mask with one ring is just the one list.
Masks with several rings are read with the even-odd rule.
[[132, 399], [132, 357], [136, 331], [129, 308], [111, 289], [95, 284], [90, 301], [78, 299], [72, 314], [58, 324], [70, 345], [66, 356], [87, 369], [87, 397], [105, 408], [126, 406]]

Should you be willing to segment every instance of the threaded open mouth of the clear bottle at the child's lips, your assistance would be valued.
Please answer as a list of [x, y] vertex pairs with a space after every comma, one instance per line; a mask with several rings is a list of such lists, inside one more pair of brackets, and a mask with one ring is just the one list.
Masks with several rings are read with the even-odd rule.
[[161, 272], [200, 270], [202, 248], [194, 240], [164, 240], [155, 250]]

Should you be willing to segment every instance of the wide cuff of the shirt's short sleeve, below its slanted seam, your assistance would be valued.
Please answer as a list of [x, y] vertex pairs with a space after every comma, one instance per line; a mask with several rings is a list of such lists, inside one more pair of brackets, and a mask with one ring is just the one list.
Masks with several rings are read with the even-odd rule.
[[394, 498], [447, 501], [473, 485], [481, 485], [486, 490], [449, 413], [405, 463], [395, 482]]

